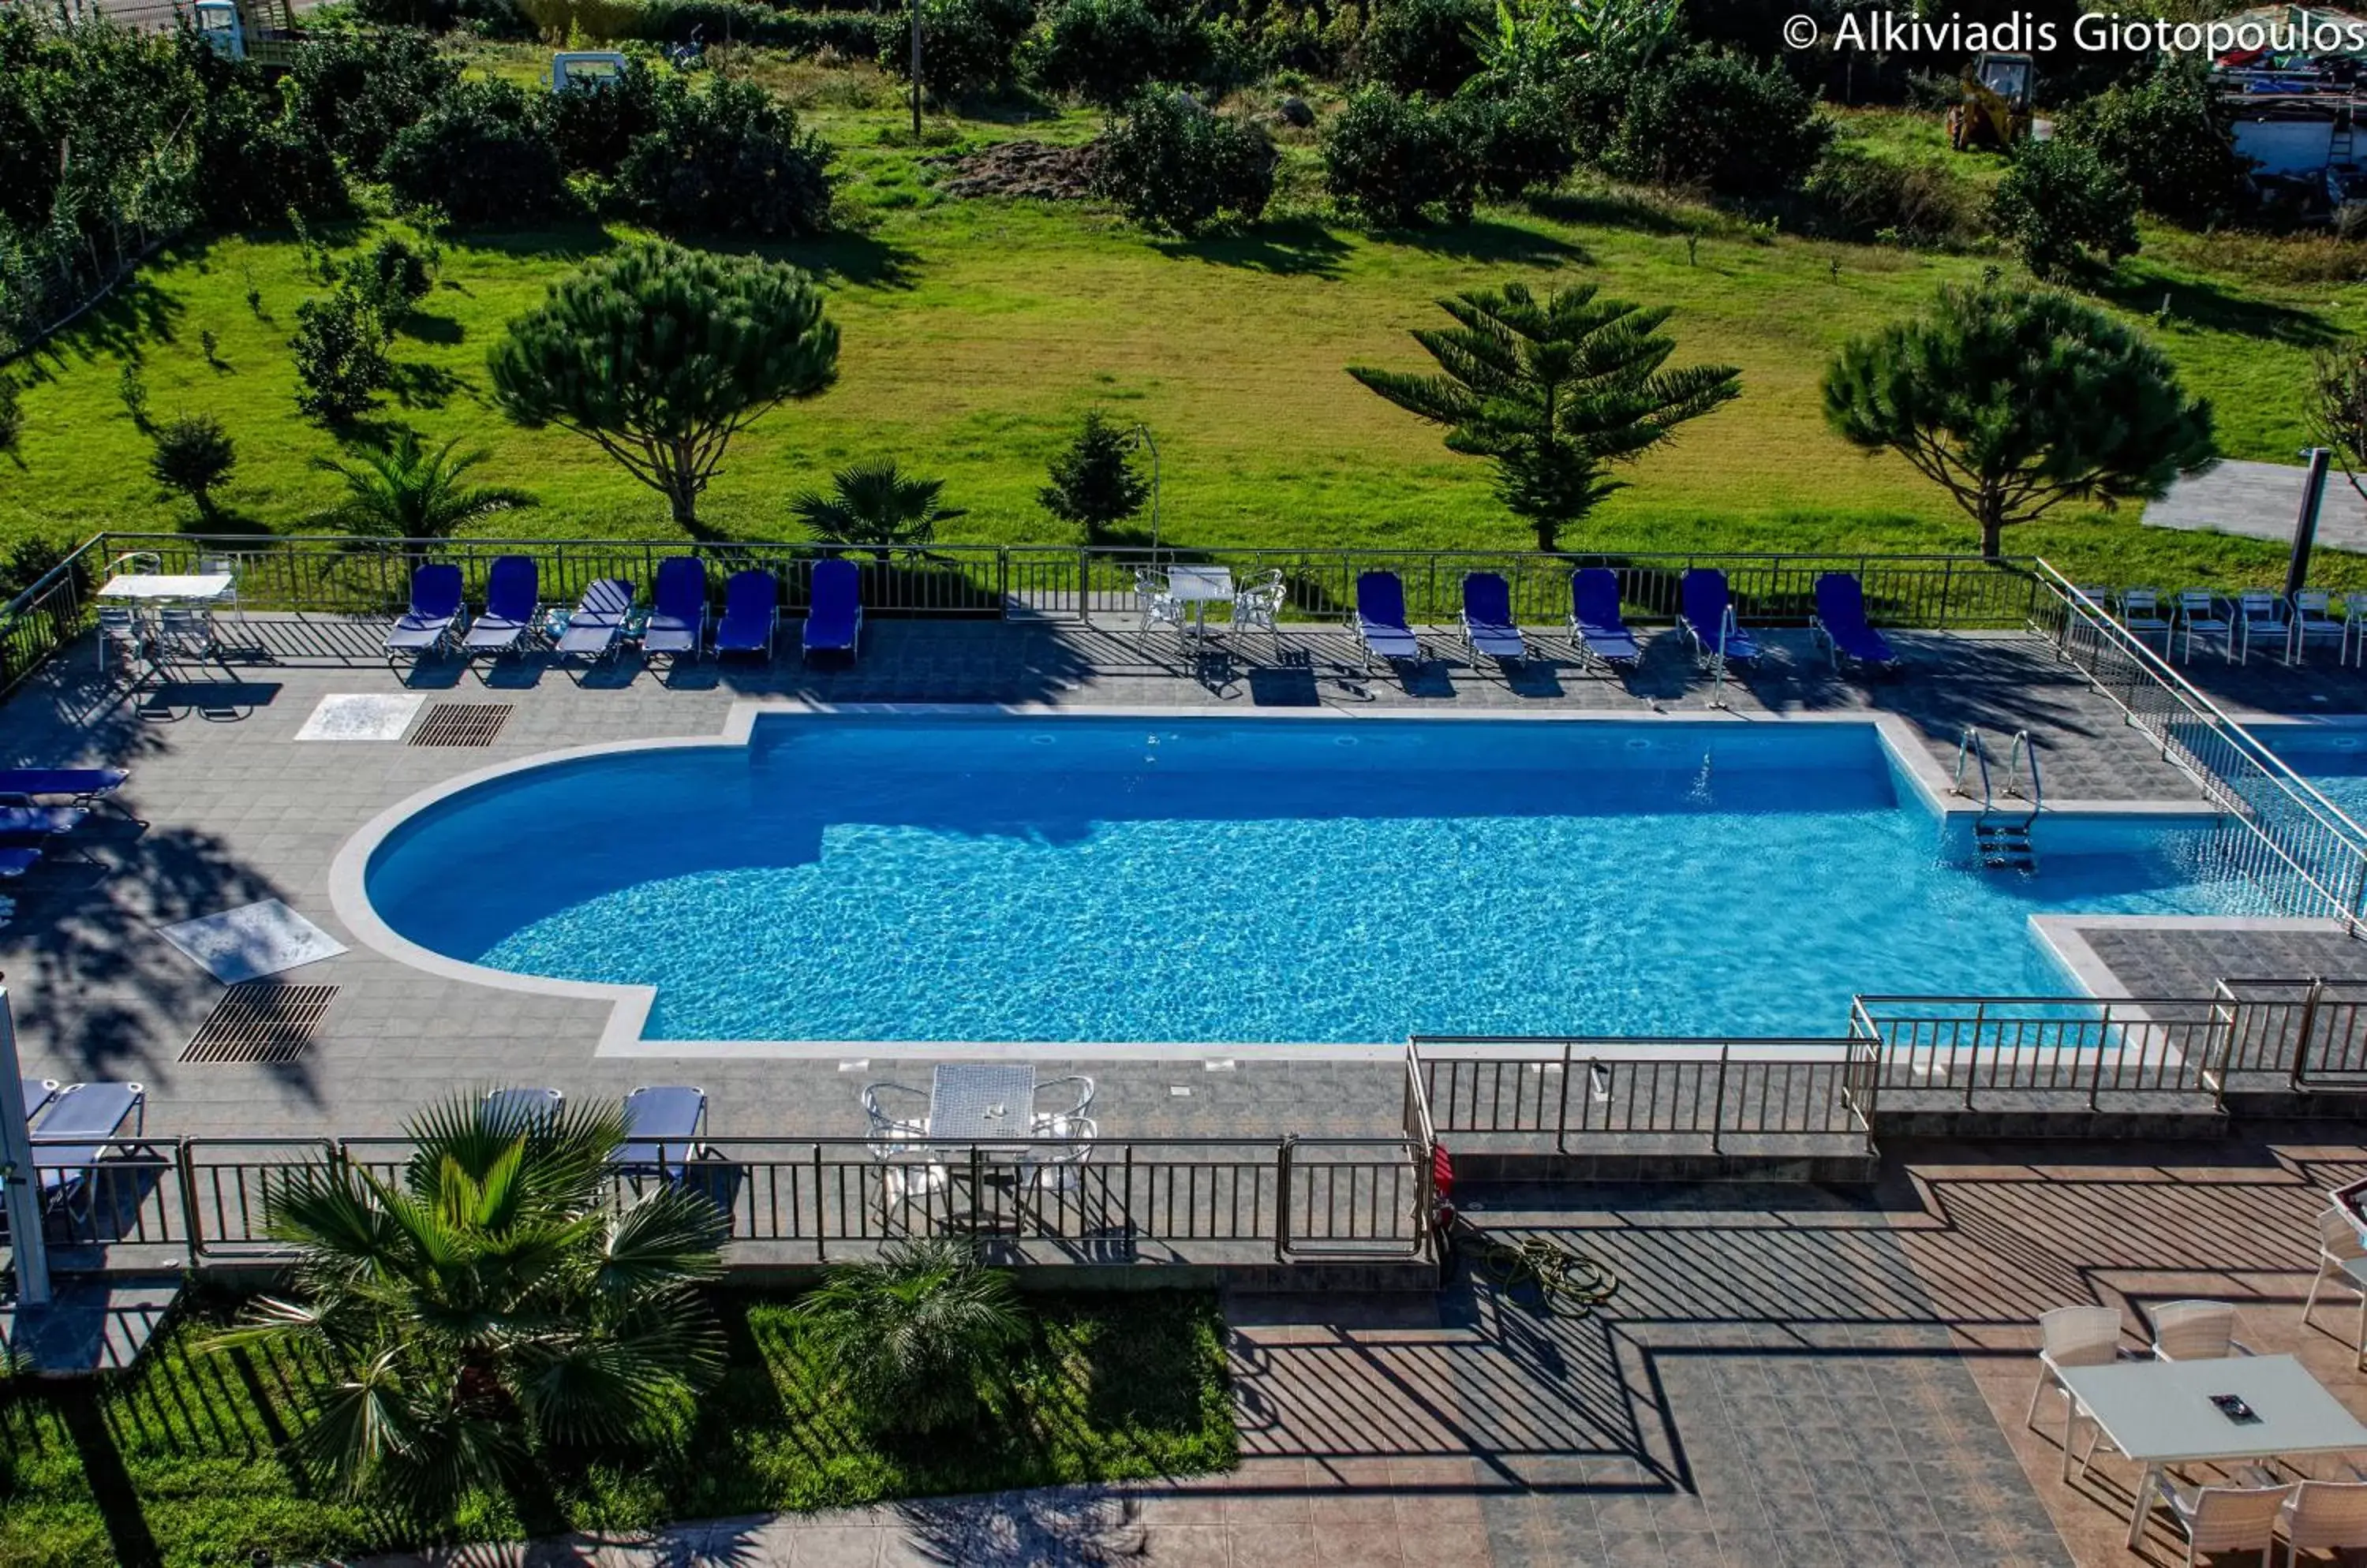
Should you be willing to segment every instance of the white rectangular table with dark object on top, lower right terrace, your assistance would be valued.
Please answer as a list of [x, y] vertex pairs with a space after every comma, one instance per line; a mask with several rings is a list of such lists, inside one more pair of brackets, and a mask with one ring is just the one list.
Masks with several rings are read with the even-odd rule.
[[[2166, 1464], [2225, 1464], [2367, 1450], [2367, 1426], [2291, 1355], [2225, 1355], [2201, 1362], [2064, 1367], [2064, 1388], [2123, 1454], [2145, 1466], [2128, 1516], [2128, 1547], [2145, 1535], [2154, 1478]], [[2232, 1393], [2258, 1421], [2232, 1421], [2211, 1402]], [[2064, 1440], [2064, 1471], [2071, 1443]]]

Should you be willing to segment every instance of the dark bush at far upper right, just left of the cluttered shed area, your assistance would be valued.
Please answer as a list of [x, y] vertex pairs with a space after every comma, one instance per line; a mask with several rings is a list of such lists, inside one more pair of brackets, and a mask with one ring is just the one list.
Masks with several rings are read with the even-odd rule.
[[2246, 166], [2199, 66], [2163, 59], [2145, 80], [2073, 104], [2055, 125], [2057, 137], [2078, 142], [2137, 187], [2147, 208], [2189, 227], [2239, 208]]

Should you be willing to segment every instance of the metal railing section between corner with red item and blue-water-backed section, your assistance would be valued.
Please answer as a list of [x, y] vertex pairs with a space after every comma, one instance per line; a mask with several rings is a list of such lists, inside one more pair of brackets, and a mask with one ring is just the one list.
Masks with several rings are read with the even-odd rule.
[[1868, 1060], [1860, 1041], [1415, 1036], [1406, 1048], [1437, 1138], [1550, 1138], [1560, 1154], [1638, 1140], [1872, 1152]]

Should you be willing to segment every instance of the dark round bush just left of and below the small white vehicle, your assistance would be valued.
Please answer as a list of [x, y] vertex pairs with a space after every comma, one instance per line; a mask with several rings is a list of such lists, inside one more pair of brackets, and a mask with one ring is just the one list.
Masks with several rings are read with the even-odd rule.
[[386, 182], [409, 208], [452, 222], [540, 218], [566, 203], [559, 151], [511, 83], [462, 83], [386, 151]]

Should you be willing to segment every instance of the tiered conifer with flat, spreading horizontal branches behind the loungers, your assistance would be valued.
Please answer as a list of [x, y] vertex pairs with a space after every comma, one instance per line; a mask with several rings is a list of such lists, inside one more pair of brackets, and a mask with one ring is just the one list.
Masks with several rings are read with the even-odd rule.
[[1349, 367], [1349, 376], [1408, 414], [1446, 426], [1446, 449], [1496, 461], [1496, 494], [1536, 527], [1536, 549], [1619, 490], [1626, 464], [1742, 393], [1742, 371], [1688, 364], [1664, 371], [1676, 338], [1669, 307], [1598, 300], [1593, 284], [1527, 284], [1458, 293], [1439, 310], [1460, 326], [1415, 331], [1444, 376]]

